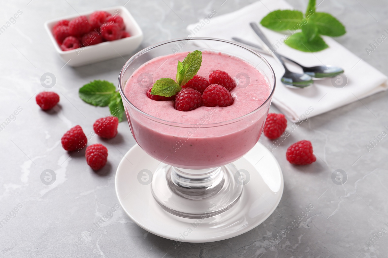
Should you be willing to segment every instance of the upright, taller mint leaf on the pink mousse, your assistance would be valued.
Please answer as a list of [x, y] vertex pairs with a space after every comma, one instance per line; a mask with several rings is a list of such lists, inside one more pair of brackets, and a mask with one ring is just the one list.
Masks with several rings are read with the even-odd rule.
[[[182, 69], [178, 70], [177, 73], [179, 73], [179, 79], [177, 80], [179, 85], [186, 84], [189, 80], [191, 80], [194, 75], [197, 74], [199, 68], [202, 65], [202, 52], [199, 50], [192, 51], [191, 53], [187, 54], [185, 59], [182, 61]], [[179, 62], [178, 62], [179, 66]], [[177, 75], [178, 77], [178, 75]]]

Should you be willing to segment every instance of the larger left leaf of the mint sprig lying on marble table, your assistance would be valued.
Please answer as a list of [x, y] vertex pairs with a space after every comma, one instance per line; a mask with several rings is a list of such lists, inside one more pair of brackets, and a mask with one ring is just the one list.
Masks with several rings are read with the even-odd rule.
[[83, 85], [78, 96], [93, 106], [105, 107], [109, 104], [114, 92], [116, 92], [116, 87], [113, 83], [106, 80], [94, 80]]

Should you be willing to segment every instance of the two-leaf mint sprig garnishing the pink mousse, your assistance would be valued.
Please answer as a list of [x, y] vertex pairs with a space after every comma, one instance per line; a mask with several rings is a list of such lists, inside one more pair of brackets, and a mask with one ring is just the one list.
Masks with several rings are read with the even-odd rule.
[[176, 80], [161, 78], [152, 85], [151, 95], [171, 97], [177, 94], [197, 74], [202, 65], [202, 52], [195, 50], [187, 54], [182, 62], [178, 61]]

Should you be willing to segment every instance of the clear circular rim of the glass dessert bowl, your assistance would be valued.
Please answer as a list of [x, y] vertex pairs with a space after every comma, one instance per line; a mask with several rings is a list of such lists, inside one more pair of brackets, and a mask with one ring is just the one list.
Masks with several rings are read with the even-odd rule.
[[[125, 63], [125, 65], [123, 66], [123, 68], [121, 69], [120, 71], [120, 75], [119, 75], [119, 78], [118, 78], [118, 89], [119, 89], [119, 92], [120, 92], [120, 95], [121, 95], [121, 99], [123, 99], [123, 101], [125, 101], [126, 103], [128, 103], [133, 109], [135, 109], [135, 111], [137, 111], [138, 113], [140, 114], [143, 114], [149, 118], [151, 118], [152, 120], [156, 121], [156, 122], [159, 122], [159, 123], [163, 123], [163, 124], [166, 124], [166, 125], [169, 125], [169, 124], [175, 124], [176, 126], [189, 126], [189, 127], [193, 127], [195, 125], [197, 125], [197, 123], [195, 124], [185, 124], [185, 123], [179, 123], [179, 122], [174, 122], [174, 121], [168, 121], [168, 120], [163, 120], [161, 118], [157, 118], [155, 116], [151, 116], [150, 114], [147, 114], [145, 113], [144, 111], [141, 111], [139, 108], [137, 108], [135, 105], [133, 105], [129, 100], [128, 98], [125, 96], [124, 94], [124, 89], [122, 87], [122, 84], [121, 84], [121, 79], [123, 78], [123, 74], [126, 70], [126, 68], [128, 68], [128, 66], [130, 66], [130, 64], [133, 62], [133, 60], [135, 60], [138, 56], [144, 54], [144, 53], [147, 53], [149, 50], [152, 50], [154, 48], [157, 48], [159, 46], [163, 46], [165, 44], [168, 44], [168, 43], [173, 43], [173, 42], [177, 42], [177, 41], [185, 41], [185, 40], [213, 40], [213, 41], [219, 41], [219, 42], [223, 42], [223, 43], [229, 43], [229, 44], [232, 44], [232, 45], [235, 45], [235, 46], [238, 46], [250, 53], [252, 53], [253, 55], [256, 55], [258, 56], [261, 60], [263, 60], [263, 62], [267, 65], [267, 67], [270, 68], [270, 72], [272, 74], [272, 78], [274, 80], [274, 83], [273, 83], [273, 87], [272, 87], [272, 90], [271, 90], [271, 93], [269, 94], [269, 96], [267, 97], [267, 99], [260, 105], [258, 106], [258, 108], [254, 109], [253, 111], [247, 113], [247, 114], [244, 114], [243, 116], [239, 116], [237, 118], [233, 118], [231, 120], [227, 120], [227, 121], [222, 121], [222, 122], [218, 122], [218, 123], [209, 123], [209, 124], [203, 124], [202, 126], [204, 127], [211, 127], [211, 126], [219, 126], [219, 125], [226, 125], [226, 124], [230, 124], [230, 123], [234, 123], [236, 121], [240, 121], [241, 119], [245, 118], [245, 117], [248, 117], [250, 116], [251, 114], [254, 114], [256, 113], [257, 111], [259, 111], [263, 106], [265, 106], [265, 104], [268, 103], [268, 101], [270, 101], [272, 99], [272, 95], [274, 94], [275, 92], [275, 87], [276, 87], [276, 76], [275, 76], [275, 72], [274, 72], [274, 69], [272, 68], [272, 66], [268, 63], [268, 61], [262, 56], [260, 55], [259, 53], [257, 53], [256, 51], [253, 51], [249, 48], [247, 48], [246, 46], [242, 45], [242, 44], [239, 44], [239, 43], [236, 43], [236, 42], [233, 42], [233, 41], [229, 41], [229, 40], [225, 40], [225, 39], [217, 39], [217, 38], [210, 38], [210, 37], [192, 37], [192, 38], [177, 38], [177, 39], [169, 39], [169, 40], [166, 40], [166, 41], [162, 41], [162, 42], [159, 42], [159, 43], [156, 43], [156, 44], [153, 44], [147, 48], [144, 48], [143, 50], [140, 50], [139, 52], [137, 52], [135, 55], [133, 55], [130, 59], [128, 59], [128, 61]], [[261, 73], [261, 71], [260, 71]], [[264, 74], [263, 74], [264, 75]], [[265, 75], [264, 75], [265, 76]], [[125, 86], [125, 85], [124, 85]]]

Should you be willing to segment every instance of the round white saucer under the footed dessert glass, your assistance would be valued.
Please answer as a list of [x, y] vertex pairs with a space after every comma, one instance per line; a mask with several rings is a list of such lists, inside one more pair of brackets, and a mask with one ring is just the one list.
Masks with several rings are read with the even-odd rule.
[[[140, 183], [144, 169], [155, 171], [161, 162], [133, 146], [121, 160], [115, 178], [116, 194], [124, 211], [137, 225], [152, 234], [178, 242], [203, 243], [235, 237], [260, 225], [280, 202], [283, 175], [275, 157], [257, 143], [244, 157], [233, 162], [249, 171], [242, 195], [226, 212], [204, 219], [172, 215], [154, 200], [151, 180]], [[139, 174], [139, 172], [142, 173]], [[139, 176], [138, 176], [139, 174]], [[152, 179], [152, 176], [149, 177]]]

